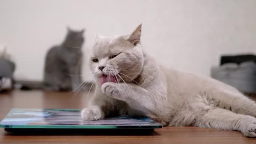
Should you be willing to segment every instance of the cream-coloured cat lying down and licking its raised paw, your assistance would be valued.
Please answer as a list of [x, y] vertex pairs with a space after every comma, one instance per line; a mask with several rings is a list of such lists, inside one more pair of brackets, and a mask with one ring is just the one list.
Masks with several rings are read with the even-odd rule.
[[[168, 126], [219, 128], [256, 137], [254, 101], [210, 77], [160, 66], [144, 51], [140, 37], [141, 25], [128, 35], [96, 35], [91, 59], [98, 61], [90, 61], [95, 95], [81, 112], [83, 120], [146, 116]], [[100, 66], [105, 68], [101, 71]], [[114, 75], [120, 83], [101, 85], [103, 74]]]

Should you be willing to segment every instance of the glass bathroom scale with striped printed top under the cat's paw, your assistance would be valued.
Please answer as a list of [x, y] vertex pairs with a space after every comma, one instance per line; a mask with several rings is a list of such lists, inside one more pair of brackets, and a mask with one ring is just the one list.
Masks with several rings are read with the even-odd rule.
[[149, 118], [109, 117], [104, 120], [85, 121], [80, 109], [11, 109], [0, 127], [8, 132], [33, 130], [89, 130], [89, 129], [143, 129], [154, 130], [163, 125]]

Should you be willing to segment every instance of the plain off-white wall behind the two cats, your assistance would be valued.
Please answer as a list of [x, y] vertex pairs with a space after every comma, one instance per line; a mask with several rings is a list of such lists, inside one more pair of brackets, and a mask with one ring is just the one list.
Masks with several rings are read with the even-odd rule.
[[222, 53], [256, 52], [255, 14], [256, 0], [0, 0], [0, 45], [17, 79], [42, 80], [45, 53], [67, 25], [86, 28], [88, 58], [94, 33], [125, 34], [142, 22], [142, 44], [160, 63], [209, 75]]

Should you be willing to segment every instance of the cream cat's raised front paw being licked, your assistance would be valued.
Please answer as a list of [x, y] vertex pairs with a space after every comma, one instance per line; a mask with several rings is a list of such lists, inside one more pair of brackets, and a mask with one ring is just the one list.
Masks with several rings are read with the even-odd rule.
[[104, 83], [101, 86], [101, 91], [107, 96], [113, 96], [115, 98], [120, 96], [117, 83], [111, 83], [111, 82]]

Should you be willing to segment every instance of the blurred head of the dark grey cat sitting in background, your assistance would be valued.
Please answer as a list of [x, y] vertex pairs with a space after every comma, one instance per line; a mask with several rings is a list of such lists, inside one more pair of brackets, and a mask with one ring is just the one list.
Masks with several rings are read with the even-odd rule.
[[82, 47], [85, 40], [83, 37], [84, 31], [85, 29], [77, 31], [67, 27], [67, 35], [64, 40], [64, 44], [70, 47]]

